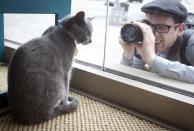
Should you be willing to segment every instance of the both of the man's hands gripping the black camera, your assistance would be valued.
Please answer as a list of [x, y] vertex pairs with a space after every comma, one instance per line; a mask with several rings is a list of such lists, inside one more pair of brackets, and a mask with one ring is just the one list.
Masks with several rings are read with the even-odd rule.
[[141, 29], [143, 33], [143, 43], [142, 44], [135, 44], [135, 43], [124, 43], [122, 40], [119, 41], [121, 44], [124, 52], [123, 56], [126, 59], [131, 59], [134, 55], [134, 49], [137, 49], [139, 55], [143, 61], [152, 67], [153, 62], [156, 58], [155, 53], [155, 36], [151, 27], [145, 23], [135, 22], [135, 24]]

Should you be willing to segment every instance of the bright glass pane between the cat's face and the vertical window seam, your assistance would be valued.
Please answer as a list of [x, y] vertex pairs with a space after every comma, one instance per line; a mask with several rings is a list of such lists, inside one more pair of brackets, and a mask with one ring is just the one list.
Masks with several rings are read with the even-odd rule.
[[106, 8], [104, 0], [72, 0], [71, 14], [84, 11], [86, 17], [94, 17], [92, 20], [92, 43], [78, 45], [77, 60], [102, 66], [104, 57]]

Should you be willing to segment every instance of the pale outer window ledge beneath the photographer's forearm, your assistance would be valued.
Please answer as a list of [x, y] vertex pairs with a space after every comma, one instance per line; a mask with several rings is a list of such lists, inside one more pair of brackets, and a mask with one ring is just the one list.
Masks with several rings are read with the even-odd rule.
[[[179, 94], [183, 94], [186, 96], [194, 97], [194, 84], [173, 80], [170, 78], [166, 78], [163, 76], [160, 76], [156, 73], [151, 73], [148, 71], [127, 67], [120, 64], [109, 64], [106, 65], [106, 67], [109, 67], [110, 69], [116, 70], [118, 72], [121, 72], [123, 74], [128, 74], [131, 79], [136, 81], [141, 81], [143, 83], [153, 85], [160, 87], [165, 90], [170, 90]], [[121, 74], [122, 76], [122, 74]]]

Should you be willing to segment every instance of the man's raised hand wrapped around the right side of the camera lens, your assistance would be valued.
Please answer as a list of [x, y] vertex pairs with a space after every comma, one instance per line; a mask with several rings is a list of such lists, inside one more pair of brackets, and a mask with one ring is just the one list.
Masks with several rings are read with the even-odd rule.
[[140, 27], [143, 33], [143, 44], [136, 45], [138, 53], [140, 53], [142, 59], [146, 64], [152, 67], [152, 64], [156, 58], [155, 53], [155, 36], [152, 32], [152, 29], [149, 25], [145, 23], [135, 23], [138, 27]]

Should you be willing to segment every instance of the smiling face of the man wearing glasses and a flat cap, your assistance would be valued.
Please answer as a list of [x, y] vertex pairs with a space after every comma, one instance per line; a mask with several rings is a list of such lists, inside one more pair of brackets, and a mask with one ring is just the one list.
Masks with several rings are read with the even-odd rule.
[[[173, 46], [177, 37], [181, 35], [178, 29], [179, 24], [176, 24], [172, 17], [160, 13], [147, 13], [147, 17], [151, 24], [159, 25], [155, 26], [158, 28], [155, 33], [156, 52], [166, 53]], [[169, 25], [168, 29], [165, 25]], [[162, 30], [164, 31], [162, 32]]]

